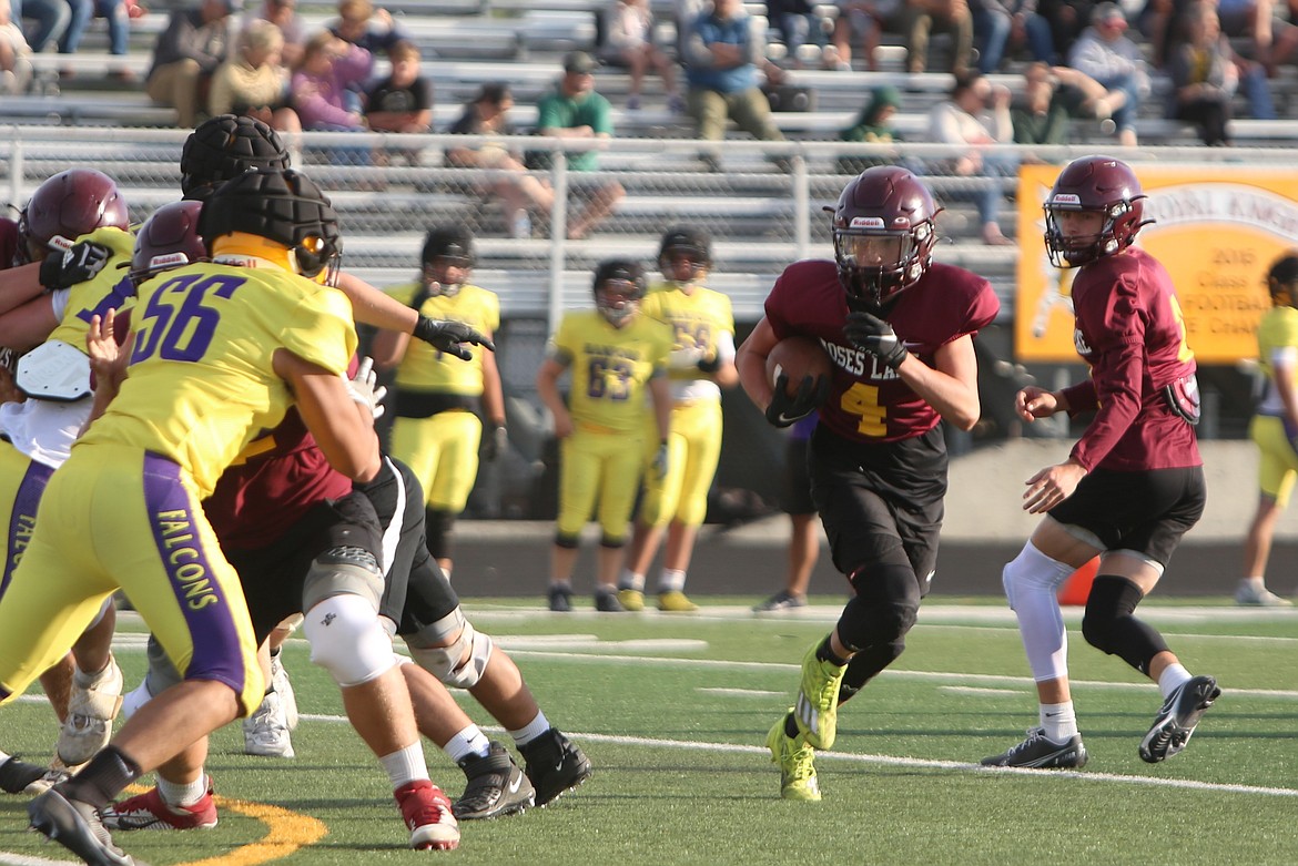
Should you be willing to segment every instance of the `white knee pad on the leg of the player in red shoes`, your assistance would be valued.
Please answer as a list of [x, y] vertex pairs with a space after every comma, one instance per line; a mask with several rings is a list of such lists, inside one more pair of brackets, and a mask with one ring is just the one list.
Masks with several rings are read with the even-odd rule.
[[367, 683], [396, 664], [374, 604], [358, 595], [332, 595], [314, 605], [302, 631], [312, 643], [312, 661], [344, 688]]

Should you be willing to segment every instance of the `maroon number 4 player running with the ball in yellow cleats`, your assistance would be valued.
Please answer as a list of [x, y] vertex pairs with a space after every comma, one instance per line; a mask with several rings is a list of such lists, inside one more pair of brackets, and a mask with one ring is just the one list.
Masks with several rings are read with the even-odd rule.
[[[999, 303], [986, 280], [932, 262], [938, 210], [905, 169], [862, 172], [832, 209], [835, 261], [787, 267], [739, 351], [744, 390], [772, 424], [819, 408], [811, 498], [854, 592], [807, 650], [797, 704], [767, 736], [787, 799], [820, 799], [814, 749], [833, 745], [837, 705], [905, 648], [937, 560], [938, 421], [968, 430], [979, 419], [974, 334]], [[833, 359], [827, 398], [810, 381], [790, 398], [784, 381], [767, 380], [766, 357], [793, 334], [819, 340]]]

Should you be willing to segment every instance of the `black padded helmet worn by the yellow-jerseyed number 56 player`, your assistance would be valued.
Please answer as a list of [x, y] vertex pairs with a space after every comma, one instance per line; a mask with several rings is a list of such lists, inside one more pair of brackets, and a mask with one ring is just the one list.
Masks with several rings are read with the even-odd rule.
[[199, 235], [215, 253], [218, 239], [232, 232], [286, 246], [297, 274], [315, 279], [327, 270], [332, 285], [343, 257], [337, 214], [302, 172], [256, 169], [221, 184], [202, 205]]

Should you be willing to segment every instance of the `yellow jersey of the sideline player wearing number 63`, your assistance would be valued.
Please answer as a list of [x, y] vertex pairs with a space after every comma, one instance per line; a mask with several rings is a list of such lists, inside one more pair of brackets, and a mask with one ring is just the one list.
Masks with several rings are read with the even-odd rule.
[[569, 312], [554, 347], [569, 359], [569, 411], [576, 424], [619, 433], [639, 432], [648, 410], [645, 382], [667, 368], [671, 328], [640, 315], [614, 328], [596, 310]]

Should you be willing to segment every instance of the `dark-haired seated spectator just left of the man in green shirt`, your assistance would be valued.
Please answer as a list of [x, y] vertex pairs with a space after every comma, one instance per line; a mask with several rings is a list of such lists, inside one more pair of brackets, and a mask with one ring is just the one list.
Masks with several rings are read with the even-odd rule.
[[[509, 122], [509, 109], [514, 106], [514, 96], [509, 84], [483, 84], [474, 101], [465, 105], [465, 113], [450, 127], [456, 135], [514, 135]], [[485, 187], [496, 194], [505, 210], [505, 224], [510, 237], [530, 237], [532, 219], [528, 206], [546, 214], [554, 207], [554, 191], [549, 183], [533, 178], [523, 166], [522, 156], [510, 153], [500, 141], [487, 141], [476, 146], [453, 146], [447, 149], [447, 163], [462, 169], [495, 169], [508, 171], [509, 176], [493, 179]]]

